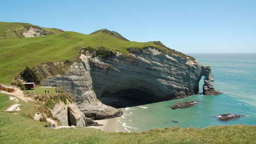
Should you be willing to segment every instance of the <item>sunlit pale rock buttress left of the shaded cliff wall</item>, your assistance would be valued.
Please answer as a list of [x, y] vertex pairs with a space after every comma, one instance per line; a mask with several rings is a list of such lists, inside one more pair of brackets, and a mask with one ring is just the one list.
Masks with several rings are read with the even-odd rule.
[[75, 97], [78, 108], [88, 118], [106, 119], [121, 116], [122, 111], [104, 105], [97, 100], [92, 88], [92, 77], [88, 59], [90, 56], [81, 55], [80, 60], [72, 64], [64, 75], [52, 76], [42, 84], [57, 84]]

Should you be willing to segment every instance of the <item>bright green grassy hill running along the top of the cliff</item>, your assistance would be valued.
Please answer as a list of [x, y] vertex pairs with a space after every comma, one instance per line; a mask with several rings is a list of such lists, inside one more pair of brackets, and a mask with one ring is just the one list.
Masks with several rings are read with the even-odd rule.
[[[20, 28], [26, 23], [0, 22], [0, 36], [8, 29]], [[44, 28], [46, 30], [55, 29]], [[77, 55], [82, 47], [106, 47], [115, 52], [129, 52], [127, 48], [155, 47], [163, 52], [176, 52], [159, 42], [132, 42], [111, 36], [102, 31], [90, 35], [76, 32], [62, 32], [40, 37], [0, 39], [0, 83], [10, 84], [14, 76], [26, 67], [44, 62], [69, 60]], [[176, 52], [177, 53], [177, 52]], [[182, 53], [177, 53], [181, 54]]]

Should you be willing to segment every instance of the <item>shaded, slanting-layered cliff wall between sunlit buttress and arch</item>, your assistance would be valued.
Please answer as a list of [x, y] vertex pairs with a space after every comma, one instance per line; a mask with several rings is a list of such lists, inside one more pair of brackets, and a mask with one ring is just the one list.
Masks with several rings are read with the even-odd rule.
[[108, 59], [91, 58], [90, 66], [93, 90], [100, 100], [171, 100], [197, 94], [202, 76], [211, 78], [213, 84], [211, 71], [198, 61], [151, 47], [128, 54], [117, 52]]

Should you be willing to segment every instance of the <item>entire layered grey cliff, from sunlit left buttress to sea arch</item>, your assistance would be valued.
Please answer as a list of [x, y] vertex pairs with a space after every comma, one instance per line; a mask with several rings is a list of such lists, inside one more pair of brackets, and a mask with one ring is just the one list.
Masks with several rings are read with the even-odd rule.
[[85, 117], [112, 118], [122, 112], [110, 106], [120, 108], [197, 94], [202, 76], [204, 94], [220, 94], [213, 88], [210, 67], [191, 57], [150, 47], [127, 54], [117, 52], [107, 59], [92, 57], [93, 52], [82, 53], [80, 61], [64, 75], [49, 77], [42, 83], [59, 84], [71, 92]]

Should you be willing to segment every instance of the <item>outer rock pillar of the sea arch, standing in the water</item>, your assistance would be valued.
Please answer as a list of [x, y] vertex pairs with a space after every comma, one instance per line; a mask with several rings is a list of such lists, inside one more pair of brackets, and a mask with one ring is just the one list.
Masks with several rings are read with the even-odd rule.
[[204, 95], [222, 94], [222, 92], [218, 92], [213, 88], [214, 77], [211, 73], [211, 68], [206, 67], [206, 68], [204, 68], [204, 70], [202, 72], [203, 72], [203, 75], [205, 76], [204, 85], [203, 85], [203, 94]]

